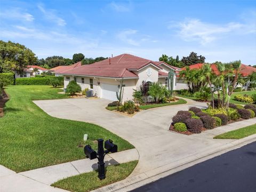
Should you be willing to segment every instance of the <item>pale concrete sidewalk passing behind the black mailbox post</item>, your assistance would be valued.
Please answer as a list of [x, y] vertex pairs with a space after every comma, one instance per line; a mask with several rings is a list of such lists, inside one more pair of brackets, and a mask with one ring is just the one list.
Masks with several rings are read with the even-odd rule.
[[[137, 149], [129, 149], [105, 156], [105, 165], [116, 165], [139, 159]], [[15, 173], [0, 165], [0, 191], [65, 191], [50, 185], [60, 179], [91, 172], [98, 169], [98, 159], [47, 166], [35, 170]]]

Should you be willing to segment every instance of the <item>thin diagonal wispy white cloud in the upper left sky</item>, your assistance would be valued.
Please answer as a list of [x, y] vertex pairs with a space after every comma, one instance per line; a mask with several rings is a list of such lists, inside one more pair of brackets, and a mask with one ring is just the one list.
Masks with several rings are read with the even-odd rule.
[[65, 26], [67, 24], [64, 19], [55, 14], [55, 10], [45, 9], [43, 4], [38, 4], [37, 7], [44, 14], [46, 19], [57, 23], [59, 26]]

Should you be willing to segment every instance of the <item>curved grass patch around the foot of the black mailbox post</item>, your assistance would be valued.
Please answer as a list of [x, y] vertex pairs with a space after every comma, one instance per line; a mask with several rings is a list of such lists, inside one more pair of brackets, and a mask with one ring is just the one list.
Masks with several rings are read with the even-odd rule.
[[98, 172], [92, 171], [59, 180], [51, 186], [76, 192], [91, 191], [125, 179], [131, 174], [137, 163], [138, 161], [132, 161], [106, 167], [106, 179], [104, 180], [99, 180]]

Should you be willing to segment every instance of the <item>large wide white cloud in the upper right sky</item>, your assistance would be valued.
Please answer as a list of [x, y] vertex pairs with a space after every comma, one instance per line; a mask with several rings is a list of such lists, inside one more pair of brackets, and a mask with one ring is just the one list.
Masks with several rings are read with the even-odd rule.
[[245, 25], [245, 23], [229, 22], [226, 25], [216, 25], [202, 22], [199, 19], [186, 19], [179, 23], [172, 22], [169, 29], [173, 28], [178, 29], [178, 36], [184, 41], [198, 41], [202, 45], [223, 38], [225, 35], [255, 32], [252, 25]]

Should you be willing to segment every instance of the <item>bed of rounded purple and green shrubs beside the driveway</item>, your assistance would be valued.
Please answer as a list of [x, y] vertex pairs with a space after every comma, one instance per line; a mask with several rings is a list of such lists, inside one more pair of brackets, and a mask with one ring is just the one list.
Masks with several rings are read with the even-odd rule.
[[244, 119], [254, 118], [256, 105], [229, 105], [229, 108], [199, 109], [190, 107], [188, 111], [180, 110], [172, 118], [171, 131], [190, 135], [205, 130], [227, 125]]

